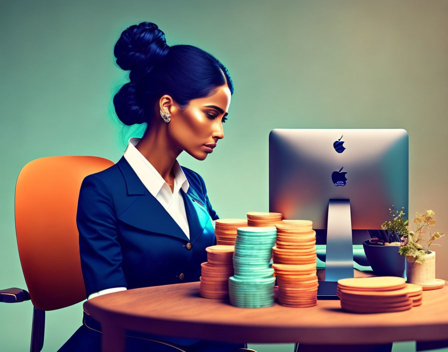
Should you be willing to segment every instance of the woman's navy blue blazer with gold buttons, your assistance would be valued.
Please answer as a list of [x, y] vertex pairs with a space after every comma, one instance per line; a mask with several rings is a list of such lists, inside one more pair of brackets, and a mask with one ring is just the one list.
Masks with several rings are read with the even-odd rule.
[[190, 239], [124, 156], [83, 179], [76, 223], [87, 296], [111, 287], [130, 289], [199, 280], [200, 263], [207, 261], [205, 247], [216, 243], [210, 219], [218, 216], [202, 177], [181, 167], [189, 182], [186, 193], [179, 191]]

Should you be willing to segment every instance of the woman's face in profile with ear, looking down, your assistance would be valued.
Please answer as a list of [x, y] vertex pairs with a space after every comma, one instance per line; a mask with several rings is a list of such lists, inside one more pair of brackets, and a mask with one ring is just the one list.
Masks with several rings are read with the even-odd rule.
[[173, 100], [163, 105], [164, 95], [160, 102], [162, 110], [171, 114], [167, 125], [171, 140], [194, 158], [205, 159], [224, 137], [222, 122], [226, 120], [230, 95], [227, 84], [221, 85], [213, 95], [190, 100], [184, 110]]

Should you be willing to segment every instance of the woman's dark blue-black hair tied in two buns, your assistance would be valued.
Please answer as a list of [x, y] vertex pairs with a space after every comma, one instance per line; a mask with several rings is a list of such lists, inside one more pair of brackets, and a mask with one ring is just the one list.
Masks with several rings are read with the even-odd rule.
[[149, 125], [155, 102], [163, 94], [171, 95], [183, 109], [191, 99], [213, 95], [223, 84], [233, 93], [227, 68], [218, 59], [196, 46], [168, 46], [155, 23], [127, 27], [113, 54], [118, 66], [130, 70], [130, 81], [113, 97], [115, 112], [126, 125]]

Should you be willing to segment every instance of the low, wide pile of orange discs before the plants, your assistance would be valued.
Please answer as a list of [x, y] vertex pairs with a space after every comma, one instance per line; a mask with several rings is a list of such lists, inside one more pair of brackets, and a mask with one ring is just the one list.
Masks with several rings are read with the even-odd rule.
[[420, 305], [421, 286], [397, 276], [351, 277], [337, 281], [340, 306], [355, 313], [385, 313]]

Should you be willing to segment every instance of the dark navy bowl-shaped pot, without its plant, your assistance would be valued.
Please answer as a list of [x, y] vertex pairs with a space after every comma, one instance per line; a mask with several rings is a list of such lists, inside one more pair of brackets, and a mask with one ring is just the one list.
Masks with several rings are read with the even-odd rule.
[[398, 253], [399, 246], [374, 244], [368, 240], [365, 240], [362, 246], [365, 256], [376, 275], [404, 277], [406, 257]]

